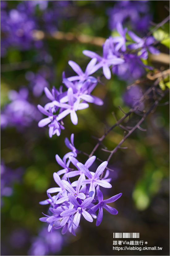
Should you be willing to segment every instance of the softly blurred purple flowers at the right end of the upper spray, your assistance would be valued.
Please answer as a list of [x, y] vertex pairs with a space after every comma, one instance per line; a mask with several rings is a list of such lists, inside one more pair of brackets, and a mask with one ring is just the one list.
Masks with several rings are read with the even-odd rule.
[[[128, 82], [133, 82], [145, 74], [145, 69], [153, 69], [151, 66], [145, 65], [143, 60], [148, 58], [148, 51], [152, 54], [158, 55], [159, 50], [154, 47], [155, 38], [153, 36], [140, 38], [132, 31], [128, 31], [130, 38], [126, 39], [127, 28], [123, 29], [121, 23], [116, 25], [117, 32], [120, 36], [110, 37], [110, 44], [113, 53], [117, 56], [123, 56], [124, 63], [115, 65], [112, 72], [117, 74], [119, 79]], [[135, 42], [135, 43], [134, 43]]]

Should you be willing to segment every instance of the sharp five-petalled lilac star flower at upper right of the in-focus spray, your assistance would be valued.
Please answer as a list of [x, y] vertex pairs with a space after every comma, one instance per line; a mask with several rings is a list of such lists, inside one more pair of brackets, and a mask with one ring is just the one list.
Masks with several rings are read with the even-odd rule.
[[84, 50], [83, 54], [90, 57], [90, 58], [96, 58], [97, 61], [99, 61], [98, 64], [96, 64], [95, 68], [94, 68], [94, 72], [98, 69], [100, 69], [101, 67], [103, 67], [103, 74], [105, 76], [105, 78], [110, 79], [111, 78], [111, 71], [109, 69], [109, 67], [111, 65], [119, 65], [122, 64], [124, 62], [123, 59], [121, 58], [117, 58], [115, 55], [110, 55], [109, 53], [109, 39], [106, 39], [104, 45], [103, 45], [103, 57], [99, 56], [96, 52], [91, 52], [88, 50]]

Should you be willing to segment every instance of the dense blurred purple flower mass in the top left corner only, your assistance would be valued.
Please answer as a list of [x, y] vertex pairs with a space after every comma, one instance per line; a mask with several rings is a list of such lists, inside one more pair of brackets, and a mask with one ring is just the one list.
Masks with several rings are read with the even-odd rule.
[[[28, 2], [28, 1], [26, 1]], [[32, 1], [31, 1], [32, 2]], [[7, 4], [5, 2], [5, 4]], [[2, 1], [1, 5], [1, 56], [6, 55], [6, 48], [11, 45], [22, 50], [28, 50], [33, 44], [32, 30], [36, 29], [36, 20], [32, 11], [26, 4], [20, 3], [16, 9], [6, 10]], [[39, 47], [42, 42], [36, 42], [34, 46]]]

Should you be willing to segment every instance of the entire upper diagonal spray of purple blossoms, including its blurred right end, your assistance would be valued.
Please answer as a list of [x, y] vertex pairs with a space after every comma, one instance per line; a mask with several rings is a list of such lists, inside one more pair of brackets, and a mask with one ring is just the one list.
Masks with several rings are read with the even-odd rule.
[[46, 96], [51, 100], [44, 108], [38, 105], [38, 109], [48, 117], [42, 119], [39, 127], [49, 125], [49, 137], [54, 134], [60, 135], [61, 129], [64, 129], [62, 119], [70, 114], [74, 125], [78, 123], [77, 110], [85, 109], [88, 103], [102, 105], [103, 101], [92, 95], [92, 90], [96, 87], [98, 80], [92, 76], [100, 68], [106, 79], [111, 78], [111, 71], [117, 74], [121, 79], [138, 79], [145, 72], [145, 68], [152, 67], [145, 65], [142, 60], [148, 58], [148, 51], [152, 54], [159, 54], [159, 50], [153, 46], [155, 39], [152, 36], [140, 38], [132, 31], [128, 31], [131, 41], [127, 41], [127, 28], [123, 28], [121, 23], [117, 23], [117, 32], [120, 36], [109, 37], [103, 45], [103, 56], [95, 52], [84, 50], [83, 54], [90, 57], [85, 72], [74, 61], [69, 61], [69, 65], [77, 73], [75, 76], [66, 78], [63, 72], [63, 84], [67, 91], [58, 91], [53, 87], [52, 92], [45, 87]]

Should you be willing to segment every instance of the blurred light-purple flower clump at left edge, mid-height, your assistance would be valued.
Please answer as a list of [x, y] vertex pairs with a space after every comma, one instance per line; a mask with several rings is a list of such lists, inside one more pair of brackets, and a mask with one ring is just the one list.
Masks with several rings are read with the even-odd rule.
[[22, 130], [23, 127], [29, 126], [33, 120], [40, 120], [40, 112], [28, 101], [27, 88], [21, 88], [19, 92], [11, 90], [8, 97], [11, 103], [2, 110], [1, 128], [16, 126]]

